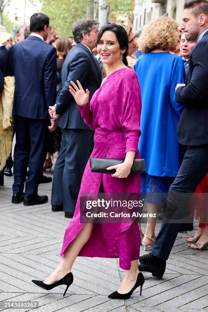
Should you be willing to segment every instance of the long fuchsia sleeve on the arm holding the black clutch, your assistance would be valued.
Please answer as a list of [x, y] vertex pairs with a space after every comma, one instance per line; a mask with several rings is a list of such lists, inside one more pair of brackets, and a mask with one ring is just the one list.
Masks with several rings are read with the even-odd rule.
[[122, 131], [124, 133], [127, 151], [137, 151], [140, 130], [141, 114], [141, 89], [135, 72], [131, 72], [133, 77], [126, 77], [123, 94], [123, 119]]

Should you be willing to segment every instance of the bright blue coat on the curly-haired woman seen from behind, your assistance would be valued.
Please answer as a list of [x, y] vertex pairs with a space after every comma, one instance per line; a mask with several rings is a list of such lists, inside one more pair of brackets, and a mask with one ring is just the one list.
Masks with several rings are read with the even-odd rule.
[[135, 64], [142, 92], [139, 151], [146, 172], [155, 176], [176, 176], [179, 144], [176, 130], [184, 104], [175, 100], [175, 87], [184, 83], [183, 60], [169, 53], [147, 53]]

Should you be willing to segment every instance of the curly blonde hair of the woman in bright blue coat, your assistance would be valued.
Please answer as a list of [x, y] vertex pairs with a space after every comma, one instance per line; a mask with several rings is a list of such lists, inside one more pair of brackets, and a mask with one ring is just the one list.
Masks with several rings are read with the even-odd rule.
[[162, 16], [151, 21], [139, 38], [143, 53], [154, 49], [174, 50], [179, 40], [178, 24], [172, 18]]

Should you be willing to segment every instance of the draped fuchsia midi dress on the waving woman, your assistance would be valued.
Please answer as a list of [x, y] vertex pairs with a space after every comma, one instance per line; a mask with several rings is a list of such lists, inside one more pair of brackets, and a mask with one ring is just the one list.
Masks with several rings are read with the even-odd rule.
[[[125, 158], [127, 151], [136, 151], [140, 131], [141, 90], [133, 69], [122, 68], [110, 74], [94, 93], [90, 106], [79, 108], [86, 124], [95, 131], [92, 158]], [[139, 193], [140, 174], [127, 178], [91, 172], [88, 161], [77, 199], [74, 216], [66, 228], [61, 255], [85, 225], [80, 222], [80, 195], [98, 193]], [[93, 224], [92, 233], [79, 256], [119, 257], [124, 270], [139, 258], [140, 233], [137, 223]]]

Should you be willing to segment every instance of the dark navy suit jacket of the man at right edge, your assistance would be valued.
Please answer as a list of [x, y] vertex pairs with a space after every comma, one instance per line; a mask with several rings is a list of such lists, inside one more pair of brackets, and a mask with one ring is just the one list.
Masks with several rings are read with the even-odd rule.
[[184, 145], [208, 144], [208, 31], [195, 45], [186, 87], [176, 90], [176, 101], [186, 104], [178, 122], [178, 142]]

